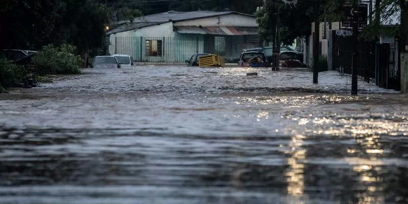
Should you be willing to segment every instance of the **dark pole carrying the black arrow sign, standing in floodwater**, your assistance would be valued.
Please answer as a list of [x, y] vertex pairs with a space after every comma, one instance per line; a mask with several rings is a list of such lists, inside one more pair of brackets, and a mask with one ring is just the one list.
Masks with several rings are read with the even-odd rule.
[[358, 83], [358, 70], [359, 70], [359, 59], [360, 55], [358, 53], [359, 47], [359, 1], [354, 1], [353, 8], [353, 55], [352, 55], [352, 69], [351, 69], [351, 95], [357, 95], [357, 83]]

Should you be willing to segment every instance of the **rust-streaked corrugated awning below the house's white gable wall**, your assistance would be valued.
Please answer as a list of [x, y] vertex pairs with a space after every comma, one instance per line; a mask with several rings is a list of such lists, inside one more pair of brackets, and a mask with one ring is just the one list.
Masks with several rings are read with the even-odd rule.
[[258, 27], [196, 27], [175, 26], [174, 31], [183, 34], [258, 35]]

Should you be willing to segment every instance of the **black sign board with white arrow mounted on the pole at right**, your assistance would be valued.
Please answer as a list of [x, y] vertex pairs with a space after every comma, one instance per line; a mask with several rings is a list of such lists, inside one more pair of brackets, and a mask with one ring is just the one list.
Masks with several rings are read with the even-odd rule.
[[360, 3], [358, 10], [354, 8], [351, 2], [343, 2], [341, 4], [341, 24], [344, 28], [352, 28], [354, 21], [354, 15], [358, 17], [358, 28], [359, 30], [367, 26], [367, 16], [368, 16], [368, 4]]

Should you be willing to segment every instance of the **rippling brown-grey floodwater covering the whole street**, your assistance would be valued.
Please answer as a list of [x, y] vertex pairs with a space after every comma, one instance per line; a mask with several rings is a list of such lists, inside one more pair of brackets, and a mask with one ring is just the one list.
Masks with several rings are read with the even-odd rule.
[[90, 68], [0, 116], [2, 204], [408, 202], [406, 95], [337, 71]]

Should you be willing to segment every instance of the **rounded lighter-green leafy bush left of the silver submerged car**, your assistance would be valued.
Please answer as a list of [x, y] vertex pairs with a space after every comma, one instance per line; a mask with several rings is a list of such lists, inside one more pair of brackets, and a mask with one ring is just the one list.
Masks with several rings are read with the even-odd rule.
[[42, 47], [33, 57], [33, 63], [40, 75], [44, 74], [75, 74], [80, 73], [82, 63], [80, 56], [75, 56], [75, 46], [63, 44], [55, 47], [50, 44]]

